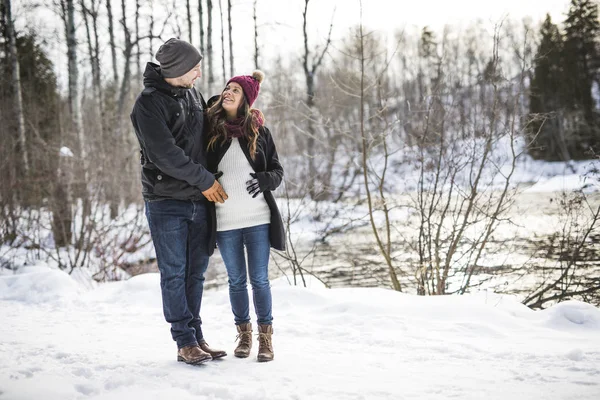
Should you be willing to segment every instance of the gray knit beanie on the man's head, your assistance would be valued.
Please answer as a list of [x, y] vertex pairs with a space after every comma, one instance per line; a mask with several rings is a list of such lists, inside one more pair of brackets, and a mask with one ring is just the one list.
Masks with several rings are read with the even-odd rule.
[[185, 40], [169, 39], [156, 52], [162, 75], [177, 78], [192, 70], [201, 60], [202, 54]]

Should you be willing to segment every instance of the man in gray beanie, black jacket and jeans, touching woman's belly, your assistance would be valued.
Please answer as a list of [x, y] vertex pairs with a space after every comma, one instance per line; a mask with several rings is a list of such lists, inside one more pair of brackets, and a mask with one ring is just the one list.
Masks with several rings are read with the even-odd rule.
[[177, 342], [177, 360], [200, 364], [224, 357], [202, 335], [200, 305], [204, 273], [214, 250], [207, 201], [227, 194], [206, 170], [204, 101], [194, 89], [202, 55], [169, 39], [149, 62], [145, 89], [131, 121], [141, 148], [142, 193], [160, 270], [163, 312]]

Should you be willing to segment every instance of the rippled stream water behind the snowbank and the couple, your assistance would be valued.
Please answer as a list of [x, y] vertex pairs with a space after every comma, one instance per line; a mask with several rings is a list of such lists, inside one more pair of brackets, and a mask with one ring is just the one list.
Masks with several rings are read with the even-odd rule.
[[[569, 278], [565, 280], [570, 285], [567, 289], [583, 291], [597, 286], [597, 290], [591, 290], [578, 299], [600, 304], [600, 227], [587, 237], [575, 262], [570, 262], [573, 246], [561, 239], [565, 236], [560, 231], [561, 227], [564, 229], [564, 219], [559, 215], [556, 202], [552, 201], [553, 196], [540, 193], [519, 196], [511, 213], [520, 224], [515, 228], [511, 222], [511, 226], [501, 226], [492, 235], [481, 259], [483, 265], [475, 268], [472, 291], [486, 289], [525, 298], [540, 285], [548, 284], [563, 274], [565, 267], [570, 265]], [[600, 203], [600, 196], [591, 199], [592, 205]], [[392, 256], [403, 291], [417, 293], [415, 271], [419, 259], [414, 240], [406, 239], [414, 234], [410, 223], [405, 221], [395, 227], [398, 234], [392, 243]], [[575, 227], [575, 230], [580, 228]], [[463, 246], [469, 246], [468, 240]], [[389, 269], [368, 226], [362, 225], [343, 235], [333, 235], [324, 243], [303, 243], [294, 250], [297, 259], [303, 259], [302, 271], [315, 276], [328, 287], [392, 287]], [[461, 265], [460, 260], [454, 265], [449, 292], [460, 287], [464, 275], [461, 269], [465, 267], [468, 265]], [[271, 278], [293, 274], [291, 263], [276, 252], [272, 252], [269, 268]], [[158, 268], [155, 260], [149, 260], [131, 266], [127, 272], [136, 275], [158, 272]], [[227, 274], [217, 251], [211, 257], [206, 287], [226, 286]]]

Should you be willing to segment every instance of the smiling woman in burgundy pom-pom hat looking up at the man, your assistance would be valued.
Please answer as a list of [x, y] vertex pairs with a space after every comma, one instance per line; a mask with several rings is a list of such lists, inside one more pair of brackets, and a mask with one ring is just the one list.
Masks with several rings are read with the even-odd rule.
[[227, 82], [207, 112], [207, 160], [209, 170], [219, 176], [219, 183], [229, 196], [212, 210], [213, 230], [229, 276], [229, 299], [238, 331], [234, 354], [245, 358], [252, 348], [245, 247], [258, 322], [257, 358], [271, 361], [274, 355], [269, 254], [270, 247], [285, 249], [285, 233], [271, 193], [281, 184], [283, 168], [271, 132], [264, 126], [263, 114], [252, 108], [263, 79], [261, 71], [254, 71]]

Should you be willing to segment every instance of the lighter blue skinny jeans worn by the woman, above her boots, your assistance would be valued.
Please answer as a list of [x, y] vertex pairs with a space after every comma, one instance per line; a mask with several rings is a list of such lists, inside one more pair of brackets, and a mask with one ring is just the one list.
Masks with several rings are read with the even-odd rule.
[[269, 224], [217, 232], [217, 246], [229, 276], [229, 300], [235, 324], [250, 322], [245, 246], [256, 317], [260, 325], [271, 325], [273, 316], [269, 283]]

